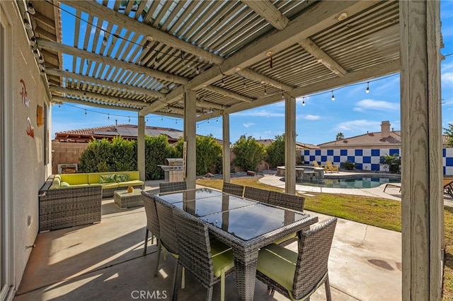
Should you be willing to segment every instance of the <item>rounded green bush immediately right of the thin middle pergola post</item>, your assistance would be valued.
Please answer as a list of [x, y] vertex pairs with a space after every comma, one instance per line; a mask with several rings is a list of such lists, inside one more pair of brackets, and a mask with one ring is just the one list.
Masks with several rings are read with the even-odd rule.
[[242, 135], [234, 143], [233, 153], [236, 155], [234, 164], [242, 167], [243, 170], [256, 170], [258, 163], [265, 158], [265, 147], [258, 143], [255, 138]]

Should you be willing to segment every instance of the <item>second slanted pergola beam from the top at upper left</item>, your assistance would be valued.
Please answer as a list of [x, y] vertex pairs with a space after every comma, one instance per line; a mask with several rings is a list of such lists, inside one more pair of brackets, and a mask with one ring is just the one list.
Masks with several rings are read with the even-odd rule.
[[136, 64], [128, 63], [127, 61], [120, 61], [119, 59], [105, 57], [101, 54], [88, 52], [86, 50], [78, 49], [76, 47], [71, 47], [68, 45], [63, 45], [58, 42], [52, 42], [52, 41], [45, 40], [42, 38], [38, 38], [36, 40], [37, 40], [37, 44], [39, 47], [42, 47], [42, 48], [50, 50], [50, 51], [71, 54], [73, 56], [81, 57], [83, 59], [89, 59], [91, 61], [98, 61], [100, 63], [108, 64], [110, 66], [116, 66], [117, 68], [130, 69], [131, 71], [134, 71], [137, 73], [143, 73], [144, 75], [152, 76], [155, 78], [160, 78], [164, 81], [171, 81], [173, 83], [181, 83], [183, 85], [188, 83], [188, 80], [183, 76], [174, 76], [171, 73], [166, 73], [166, 72], [162, 72], [162, 71], [149, 69], [144, 66], [138, 66]]

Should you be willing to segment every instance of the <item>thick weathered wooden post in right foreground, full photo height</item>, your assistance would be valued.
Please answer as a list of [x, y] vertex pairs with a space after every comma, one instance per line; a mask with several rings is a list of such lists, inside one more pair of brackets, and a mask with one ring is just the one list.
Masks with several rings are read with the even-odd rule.
[[400, 1], [403, 300], [442, 292], [440, 2]]

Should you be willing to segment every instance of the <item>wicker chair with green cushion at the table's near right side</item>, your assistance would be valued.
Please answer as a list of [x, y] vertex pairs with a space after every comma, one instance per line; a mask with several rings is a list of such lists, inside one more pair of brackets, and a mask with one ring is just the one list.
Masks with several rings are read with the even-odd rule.
[[[260, 249], [256, 278], [268, 285], [270, 295], [277, 290], [291, 300], [307, 300], [324, 284], [327, 300], [331, 300], [328, 256], [336, 223], [337, 218], [331, 218], [323, 225], [303, 232], [298, 253], [278, 244]], [[288, 275], [294, 275], [294, 278]]]

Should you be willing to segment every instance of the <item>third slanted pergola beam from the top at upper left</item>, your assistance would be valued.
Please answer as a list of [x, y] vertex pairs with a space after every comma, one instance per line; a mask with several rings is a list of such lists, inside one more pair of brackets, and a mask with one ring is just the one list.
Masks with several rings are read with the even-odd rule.
[[125, 89], [127, 91], [134, 91], [136, 95], [147, 95], [151, 97], [160, 97], [163, 98], [165, 95], [154, 90], [149, 90], [145, 88], [135, 87], [134, 85], [126, 85], [125, 83], [115, 83], [114, 81], [106, 81], [99, 78], [94, 78], [92, 76], [84, 76], [77, 73], [72, 73], [69, 71], [62, 71], [59, 69], [47, 69], [46, 73], [52, 76], [59, 76], [65, 78], [76, 79], [77, 81], [84, 81], [85, 83], [94, 83], [96, 85], [101, 85], [104, 87], [110, 87], [117, 90]]

